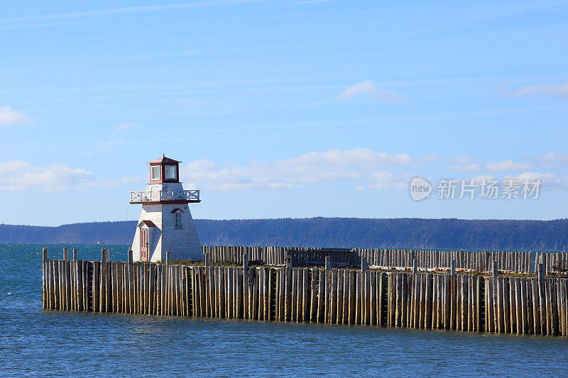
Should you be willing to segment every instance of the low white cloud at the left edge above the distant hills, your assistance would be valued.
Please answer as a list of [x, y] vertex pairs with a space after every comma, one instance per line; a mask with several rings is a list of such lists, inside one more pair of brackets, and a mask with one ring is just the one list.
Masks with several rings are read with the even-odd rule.
[[43, 167], [22, 160], [0, 162], [0, 190], [67, 191], [86, 189], [94, 176], [84, 169], [65, 164]]

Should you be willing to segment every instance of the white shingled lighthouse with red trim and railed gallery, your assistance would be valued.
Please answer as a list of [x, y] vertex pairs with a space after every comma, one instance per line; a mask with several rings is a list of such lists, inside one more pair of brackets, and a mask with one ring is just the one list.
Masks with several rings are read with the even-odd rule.
[[130, 203], [142, 204], [132, 252], [134, 261], [204, 260], [189, 204], [200, 202], [199, 190], [184, 190], [180, 162], [162, 156], [148, 162], [150, 182], [145, 191], [131, 191]]

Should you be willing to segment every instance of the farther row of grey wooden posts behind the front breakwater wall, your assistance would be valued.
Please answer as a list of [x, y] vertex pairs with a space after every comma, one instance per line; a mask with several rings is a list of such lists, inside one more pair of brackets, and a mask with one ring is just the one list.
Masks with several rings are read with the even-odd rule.
[[359, 267], [364, 257], [371, 267], [412, 267], [417, 260], [419, 268], [449, 268], [452, 261], [457, 269], [488, 272], [497, 262], [498, 269], [508, 272], [535, 274], [537, 265], [545, 265], [545, 272], [568, 269], [567, 252], [516, 252], [516, 251], [447, 251], [447, 250], [400, 250], [377, 248], [307, 248], [307, 247], [245, 247], [204, 246], [212, 262], [242, 264], [243, 255], [250, 261], [266, 265], [323, 265], [329, 257], [333, 266]]

